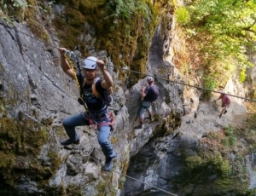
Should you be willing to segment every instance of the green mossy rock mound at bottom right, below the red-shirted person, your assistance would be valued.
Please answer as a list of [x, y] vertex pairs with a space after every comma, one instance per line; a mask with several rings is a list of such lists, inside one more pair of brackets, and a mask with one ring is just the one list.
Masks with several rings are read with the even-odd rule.
[[[184, 167], [177, 177], [177, 183], [182, 186], [179, 191], [183, 195], [253, 195], [254, 190], [248, 190], [249, 179], [243, 168], [244, 153], [237, 150], [239, 141], [233, 145], [223, 145], [224, 138], [237, 136], [243, 130], [220, 130], [211, 132], [201, 140], [201, 147], [194, 153], [183, 152]], [[236, 150], [235, 150], [236, 149]], [[230, 159], [230, 153], [236, 153], [236, 159]], [[214, 190], [214, 193], [212, 192]]]

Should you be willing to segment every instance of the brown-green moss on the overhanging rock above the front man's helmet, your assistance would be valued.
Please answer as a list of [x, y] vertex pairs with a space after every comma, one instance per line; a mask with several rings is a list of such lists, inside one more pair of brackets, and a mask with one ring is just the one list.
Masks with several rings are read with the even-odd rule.
[[[125, 8], [118, 10], [118, 3], [113, 5], [108, 1], [60, 1], [65, 5], [65, 11], [55, 17], [54, 24], [61, 45], [66, 48], [74, 49], [79, 46], [82, 55], [91, 55], [88, 44], [92, 44], [97, 51], [106, 49], [116, 68], [131, 66], [132, 69], [145, 73], [150, 35], [159, 22], [159, 8], [166, 2], [157, 4], [137, 1], [136, 9], [127, 18]], [[153, 14], [148, 15], [150, 12]], [[90, 30], [87, 29], [88, 25]], [[94, 32], [91, 28], [95, 30], [93, 36], [96, 40], [86, 43], [83, 37]], [[119, 79], [125, 80], [127, 72], [122, 72], [120, 70]], [[130, 85], [136, 84], [142, 77], [143, 75], [131, 74]]]

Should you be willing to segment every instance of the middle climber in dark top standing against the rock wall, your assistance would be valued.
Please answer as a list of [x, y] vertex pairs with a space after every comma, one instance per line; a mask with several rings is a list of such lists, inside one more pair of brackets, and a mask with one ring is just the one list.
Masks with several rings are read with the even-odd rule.
[[139, 124], [135, 126], [134, 129], [143, 128], [143, 119], [146, 111], [148, 111], [149, 120], [152, 121], [151, 105], [152, 102], [157, 100], [159, 96], [159, 89], [156, 85], [154, 85], [154, 78], [148, 76], [147, 82], [148, 86], [143, 86], [141, 89], [141, 97], [143, 98], [143, 102], [139, 110]]

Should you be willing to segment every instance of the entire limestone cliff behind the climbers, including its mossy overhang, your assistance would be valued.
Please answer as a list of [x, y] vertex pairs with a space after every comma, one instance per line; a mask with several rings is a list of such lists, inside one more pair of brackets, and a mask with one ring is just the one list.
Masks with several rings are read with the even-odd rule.
[[[165, 195], [153, 186], [166, 195], [252, 193], [254, 136], [236, 137], [236, 146], [221, 143], [233, 141], [236, 131], [229, 125], [246, 108], [234, 99], [229, 118], [216, 119], [218, 106], [200, 101], [201, 91], [185, 88], [188, 78], [175, 66], [175, 44], [183, 41], [172, 15], [174, 3], [127, 1], [130, 7], [118, 12], [118, 1], [20, 2], [25, 4], [8, 10], [17, 13], [12, 22], [6, 9], [0, 13], [0, 193]], [[84, 111], [76, 83], [61, 71], [62, 46], [74, 50], [80, 61], [97, 56], [113, 76], [110, 141], [118, 157], [112, 172], [102, 171], [104, 157], [90, 127], [78, 127], [80, 145], [60, 145], [67, 137], [62, 120]], [[153, 122], [134, 130], [145, 75], [155, 77], [160, 98]], [[196, 79], [192, 83], [200, 83]], [[227, 85], [230, 93], [246, 95], [246, 88], [240, 90], [244, 86], [230, 81], [235, 84]], [[224, 131], [226, 126], [230, 130]]]

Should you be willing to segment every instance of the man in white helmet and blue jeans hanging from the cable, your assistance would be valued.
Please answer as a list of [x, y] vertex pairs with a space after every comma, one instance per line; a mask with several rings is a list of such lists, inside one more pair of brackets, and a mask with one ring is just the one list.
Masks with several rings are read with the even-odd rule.
[[[113, 128], [110, 112], [105, 101], [94, 94], [95, 90], [93, 91], [93, 89], [96, 89], [98, 94], [104, 95], [105, 91], [113, 86], [113, 78], [106, 70], [104, 61], [97, 60], [93, 56], [84, 60], [83, 74], [74, 73], [65, 56], [67, 49], [60, 48], [59, 51], [61, 53], [61, 68], [63, 72], [73, 79], [77, 76], [79, 84], [81, 84], [82, 99], [88, 108], [85, 112], [64, 119], [63, 126], [69, 138], [61, 141], [61, 145], [80, 143], [79, 135], [75, 130], [76, 126], [96, 124], [98, 142], [106, 158], [103, 170], [113, 170], [113, 159], [116, 157], [116, 153], [113, 152], [113, 147], [108, 141], [111, 128]], [[104, 79], [96, 79], [98, 70], [101, 70]]]

